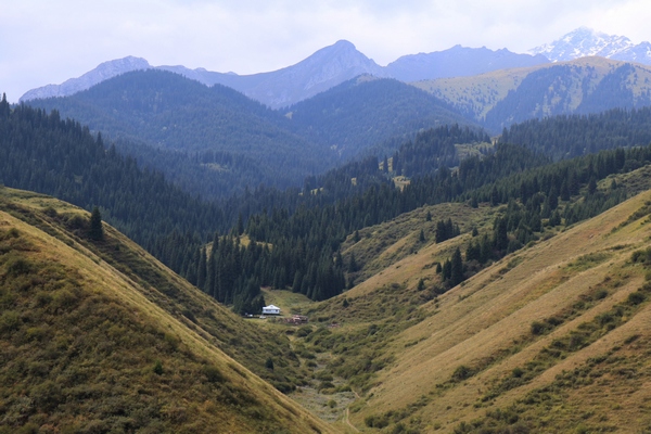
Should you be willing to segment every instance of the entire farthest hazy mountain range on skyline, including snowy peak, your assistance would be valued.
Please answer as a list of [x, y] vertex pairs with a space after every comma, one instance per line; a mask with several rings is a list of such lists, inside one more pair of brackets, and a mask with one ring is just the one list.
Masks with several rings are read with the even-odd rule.
[[295, 65], [253, 75], [216, 73], [205, 68], [190, 69], [181, 65], [152, 66], [144, 59], [127, 56], [104, 62], [95, 69], [62, 85], [29, 90], [21, 97], [21, 101], [71, 95], [119, 74], [158, 68], [181, 74], [206, 86], [225, 85], [272, 108], [281, 108], [365, 74], [410, 82], [472, 76], [589, 55], [651, 64], [651, 44], [634, 44], [628, 38], [582, 27], [554, 42], [529, 50], [529, 54], [516, 54], [507, 49], [494, 51], [485, 47], [455, 46], [444, 51], [405, 55], [382, 67], [359, 52], [353, 43], [340, 40]]

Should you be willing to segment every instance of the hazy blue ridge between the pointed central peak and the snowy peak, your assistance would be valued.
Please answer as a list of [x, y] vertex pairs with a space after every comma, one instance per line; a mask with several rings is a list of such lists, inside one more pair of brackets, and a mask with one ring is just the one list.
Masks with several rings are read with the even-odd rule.
[[540, 54], [516, 54], [507, 49], [455, 46], [433, 53], [404, 55], [386, 65], [385, 71], [401, 81], [418, 81], [443, 77], [472, 76], [492, 71], [536, 66], [549, 63]]

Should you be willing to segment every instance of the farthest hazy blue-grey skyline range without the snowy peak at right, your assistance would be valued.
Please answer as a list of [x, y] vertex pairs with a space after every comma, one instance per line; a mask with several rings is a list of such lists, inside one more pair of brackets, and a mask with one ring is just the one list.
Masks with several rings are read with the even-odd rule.
[[514, 54], [506, 49], [492, 51], [486, 48], [471, 49], [457, 46], [442, 52], [404, 56], [386, 67], [382, 67], [359, 52], [353, 43], [340, 40], [295, 65], [253, 75], [224, 74], [205, 68], [190, 69], [180, 65], [152, 66], [144, 59], [128, 56], [104, 62], [81, 77], [72, 78], [60, 86], [48, 85], [33, 89], [21, 97], [21, 101], [66, 97], [89, 89], [91, 86], [119, 74], [155, 68], [180, 74], [206, 86], [224, 85], [272, 108], [281, 108], [360, 75], [412, 81], [414, 79], [473, 75], [540, 63], [547, 63], [541, 55]]

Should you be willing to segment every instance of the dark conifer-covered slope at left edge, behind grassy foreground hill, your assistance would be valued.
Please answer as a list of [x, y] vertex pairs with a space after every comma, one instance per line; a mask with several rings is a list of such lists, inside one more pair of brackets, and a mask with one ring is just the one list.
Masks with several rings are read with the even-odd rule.
[[[156, 252], [176, 230], [212, 233], [224, 227], [222, 210], [141, 170], [131, 157], [106, 150], [101, 136], [58, 112], [0, 103], [0, 182], [51, 194], [92, 209], [136, 242]], [[4, 108], [7, 107], [7, 108]]]

